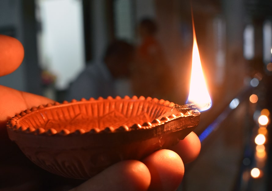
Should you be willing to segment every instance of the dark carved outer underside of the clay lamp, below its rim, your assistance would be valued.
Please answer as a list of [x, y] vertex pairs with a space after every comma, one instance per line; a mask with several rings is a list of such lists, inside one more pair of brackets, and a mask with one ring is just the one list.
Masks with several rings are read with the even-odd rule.
[[[175, 144], [179, 139], [172, 139]], [[150, 140], [149, 140], [150, 142]], [[160, 150], [164, 146], [163, 137], [153, 138], [152, 147], [142, 143], [132, 143], [124, 147], [81, 148], [70, 150], [50, 150], [35, 147], [21, 147], [26, 156], [41, 168], [68, 178], [88, 179], [108, 166], [122, 160], [140, 160], [148, 154]]]

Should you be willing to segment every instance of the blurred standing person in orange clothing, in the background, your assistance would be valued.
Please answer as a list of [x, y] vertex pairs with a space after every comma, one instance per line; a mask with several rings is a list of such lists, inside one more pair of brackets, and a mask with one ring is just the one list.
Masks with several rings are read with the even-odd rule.
[[138, 26], [140, 44], [134, 65], [132, 88], [134, 94], [145, 97], [171, 99], [173, 76], [164, 57], [164, 51], [156, 39], [158, 27], [150, 18], [144, 18]]

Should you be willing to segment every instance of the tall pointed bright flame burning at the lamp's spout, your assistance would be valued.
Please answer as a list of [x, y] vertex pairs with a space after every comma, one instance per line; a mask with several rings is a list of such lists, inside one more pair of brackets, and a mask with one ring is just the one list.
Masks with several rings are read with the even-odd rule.
[[[192, 13], [193, 19], [193, 13]], [[190, 91], [188, 96], [189, 103], [196, 103], [199, 111], [205, 111], [211, 108], [211, 97], [208, 93], [205, 82], [200, 55], [197, 47], [197, 38], [193, 22], [193, 55], [192, 55], [192, 73], [190, 82]]]

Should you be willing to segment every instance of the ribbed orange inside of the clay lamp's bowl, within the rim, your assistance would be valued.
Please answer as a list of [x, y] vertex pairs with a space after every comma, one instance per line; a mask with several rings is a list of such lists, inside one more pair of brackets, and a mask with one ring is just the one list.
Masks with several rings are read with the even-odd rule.
[[[60, 133], [58, 129], [67, 129], [69, 131], [67, 134], [69, 134], [78, 130], [79, 127], [86, 132], [93, 128], [104, 130], [106, 127], [116, 129], [122, 125], [143, 124], [160, 116], [169, 109], [168, 105], [174, 104], [156, 98], [147, 98], [148, 102], [144, 102], [141, 98], [135, 99], [135, 97], [124, 98], [122, 101], [118, 101], [120, 100], [118, 98], [113, 100], [108, 98], [96, 101], [90, 99], [89, 102], [85, 100], [72, 101], [70, 105], [65, 107], [59, 103], [55, 104], [57, 107], [48, 104], [40, 106], [38, 109], [35, 108], [32, 111], [34, 115], [28, 116], [27, 121], [24, 120], [24, 115], [31, 113], [32, 109], [29, 110], [30, 112], [21, 112], [21, 116], [18, 116], [20, 116], [20, 123], [25, 127], [39, 127], [45, 132], [49, 131], [48, 134]], [[159, 104], [154, 104], [154, 102]], [[45, 133], [42, 129], [36, 133]]]

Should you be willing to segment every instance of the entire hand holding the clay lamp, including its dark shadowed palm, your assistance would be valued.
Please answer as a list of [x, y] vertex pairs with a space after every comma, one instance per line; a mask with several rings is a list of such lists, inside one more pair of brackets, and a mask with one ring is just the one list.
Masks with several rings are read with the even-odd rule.
[[[0, 35], [0, 76], [15, 71], [24, 57], [22, 44]], [[120, 161], [89, 180], [68, 179], [49, 173], [32, 163], [9, 140], [6, 123], [26, 108], [54, 103], [46, 97], [0, 86], [0, 190], [176, 190], [184, 175], [184, 163], [200, 152], [195, 133], [168, 149], [158, 150], [141, 161]]]

